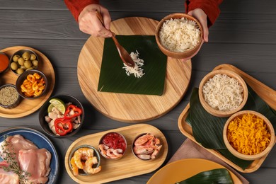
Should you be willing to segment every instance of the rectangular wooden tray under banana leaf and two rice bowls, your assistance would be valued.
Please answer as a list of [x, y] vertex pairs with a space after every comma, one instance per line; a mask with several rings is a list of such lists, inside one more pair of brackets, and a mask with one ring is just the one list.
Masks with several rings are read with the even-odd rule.
[[[222, 64], [218, 67], [215, 67], [214, 70], [218, 69], [228, 69], [231, 71], [235, 71], [237, 74], [239, 74], [246, 83], [253, 88], [253, 90], [262, 98], [265, 100], [268, 105], [270, 105], [271, 108], [276, 109], [276, 91], [272, 90], [272, 88], [269, 88], [268, 86], [265, 86], [265, 84], [260, 83], [260, 81], [257, 81], [252, 76], [249, 76], [248, 74], [244, 73], [240, 69], [230, 65], [230, 64]], [[197, 143], [195, 138], [192, 136], [192, 127], [188, 125], [187, 122], [185, 122], [185, 119], [188, 115], [188, 111], [190, 108], [190, 103], [186, 106], [186, 108], [183, 110], [183, 112], [180, 114], [180, 117], [178, 118], [178, 127], [180, 129], [180, 132], [182, 132], [186, 137], [191, 139], [193, 142]], [[275, 140], [276, 142], [276, 140]], [[199, 143], [197, 143], [199, 144]], [[199, 144], [200, 145], [200, 144]], [[201, 145], [200, 145], [201, 146]], [[202, 146], [203, 147], [203, 146]], [[215, 151], [213, 149], [207, 149], [210, 153], [214, 154], [215, 156], [219, 157], [219, 159], [222, 159], [226, 163], [228, 163], [233, 168], [236, 168], [236, 170], [242, 172], [242, 173], [252, 173], [253, 171], [256, 171], [258, 168], [260, 168], [260, 165], [265, 160], [266, 156], [263, 156], [260, 159], [257, 159], [251, 163], [248, 168], [243, 170], [241, 167], [237, 166], [235, 163], [230, 161], [229, 159], [226, 159], [222, 154], [220, 154], [218, 151]]]

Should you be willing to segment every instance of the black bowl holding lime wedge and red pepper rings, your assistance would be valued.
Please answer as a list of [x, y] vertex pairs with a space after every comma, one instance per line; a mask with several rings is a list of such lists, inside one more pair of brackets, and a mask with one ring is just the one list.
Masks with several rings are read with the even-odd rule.
[[84, 107], [74, 96], [53, 96], [40, 108], [39, 120], [46, 134], [57, 138], [71, 137], [84, 124]]

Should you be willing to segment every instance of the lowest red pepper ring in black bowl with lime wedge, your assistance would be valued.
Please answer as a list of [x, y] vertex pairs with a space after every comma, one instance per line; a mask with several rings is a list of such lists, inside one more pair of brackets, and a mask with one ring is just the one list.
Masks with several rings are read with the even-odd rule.
[[70, 119], [57, 118], [56, 120], [54, 120], [54, 128], [57, 134], [63, 136], [71, 132], [71, 130], [73, 129], [73, 125]]

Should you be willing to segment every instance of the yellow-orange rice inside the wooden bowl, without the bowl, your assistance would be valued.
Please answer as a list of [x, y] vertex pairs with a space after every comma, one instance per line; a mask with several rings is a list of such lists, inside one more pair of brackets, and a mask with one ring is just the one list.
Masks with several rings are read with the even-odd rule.
[[262, 118], [245, 114], [229, 123], [227, 139], [241, 154], [260, 154], [270, 143], [271, 134]]

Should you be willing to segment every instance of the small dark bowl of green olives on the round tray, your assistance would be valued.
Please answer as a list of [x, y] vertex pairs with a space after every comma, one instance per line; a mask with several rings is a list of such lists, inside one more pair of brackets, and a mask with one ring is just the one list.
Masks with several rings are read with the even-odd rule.
[[9, 66], [17, 75], [30, 69], [38, 69], [38, 54], [33, 50], [18, 50], [11, 56]]

